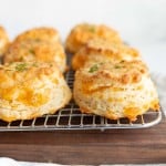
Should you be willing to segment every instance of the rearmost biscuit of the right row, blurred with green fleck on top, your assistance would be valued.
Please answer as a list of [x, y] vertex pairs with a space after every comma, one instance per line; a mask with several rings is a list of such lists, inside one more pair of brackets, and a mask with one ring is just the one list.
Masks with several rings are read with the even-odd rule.
[[104, 24], [82, 23], [74, 27], [65, 41], [65, 48], [69, 52], [77, 52], [91, 39], [104, 39], [111, 43], [122, 43], [118, 33]]

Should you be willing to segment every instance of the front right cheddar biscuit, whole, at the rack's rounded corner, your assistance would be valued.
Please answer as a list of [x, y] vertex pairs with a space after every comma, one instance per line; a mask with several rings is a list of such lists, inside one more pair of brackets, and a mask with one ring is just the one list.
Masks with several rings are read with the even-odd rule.
[[135, 121], [159, 110], [158, 95], [142, 61], [93, 63], [75, 74], [74, 100], [82, 113]]

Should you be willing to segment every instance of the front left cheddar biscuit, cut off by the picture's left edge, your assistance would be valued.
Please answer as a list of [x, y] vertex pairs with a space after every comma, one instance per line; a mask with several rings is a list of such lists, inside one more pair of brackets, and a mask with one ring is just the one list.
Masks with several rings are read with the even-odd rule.
[[14, 62], [0, 66], [0, 120], [31, 120], [54, 114], [71, 91], [53, 63]]

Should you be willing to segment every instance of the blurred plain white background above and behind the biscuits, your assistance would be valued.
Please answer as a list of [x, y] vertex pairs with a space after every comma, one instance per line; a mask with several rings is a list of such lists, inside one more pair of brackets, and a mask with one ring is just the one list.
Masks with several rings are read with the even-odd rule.
[[40, 25], [64, 40], [80, 22], [105, 23], [139, 49], [151, 71], [166, 74], [166, 0], [0, 0], [0, 24], [13, 39]]

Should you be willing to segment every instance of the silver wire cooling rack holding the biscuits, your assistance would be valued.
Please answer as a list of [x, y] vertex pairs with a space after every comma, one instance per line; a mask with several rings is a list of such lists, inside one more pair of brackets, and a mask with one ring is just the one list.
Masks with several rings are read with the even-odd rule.
[[[70, 87], [73, 89], [74, 72], [69, 71], [65, 79]], [[127, 118], [107, 120], [92, 114], [82, 114], [74, 101], [71, 101], [69, 105], [54, 115], [44, 115], [34, 120], [12, 123], [0, 121], [0, 131], [145, 128], [158, 124], [160, 120], [162, 111], [154, 112], [151, 110], [138, 116], [135, 122], [129, 122]]]

